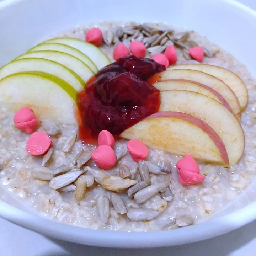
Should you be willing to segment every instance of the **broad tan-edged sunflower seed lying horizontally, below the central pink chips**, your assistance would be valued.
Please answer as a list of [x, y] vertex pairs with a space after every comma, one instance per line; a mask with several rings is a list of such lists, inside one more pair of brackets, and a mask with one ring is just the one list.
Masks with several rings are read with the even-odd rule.
[[107, 176], [103, 179], [101, 186], [107, 190], [120, 191], [137, 183], [138, 181], [135, 180], [124, 179], [117, 176]]

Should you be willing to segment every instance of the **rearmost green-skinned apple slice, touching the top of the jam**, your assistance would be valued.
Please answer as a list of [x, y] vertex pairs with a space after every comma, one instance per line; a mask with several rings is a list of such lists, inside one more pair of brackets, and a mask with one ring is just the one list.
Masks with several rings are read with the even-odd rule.
[[43, 43], [61, 43], [76, 48], [80, 50], [80, 52], [87, 55], [94, 62], [99, 70], [111, 63], [107, 55], [103, 53], [100, 48], [80, 39], [62, 37], [49, 39]]

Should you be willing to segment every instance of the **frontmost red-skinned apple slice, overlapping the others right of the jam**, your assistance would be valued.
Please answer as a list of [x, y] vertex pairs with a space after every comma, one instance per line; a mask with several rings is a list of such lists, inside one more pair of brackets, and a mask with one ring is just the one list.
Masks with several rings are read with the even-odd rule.
[[139, 139], [146, 145], [174, 155], [190, 154], [206, 162], [229, 165], [222, 140], [208, 124], [182, 112], [158, 112], [125, 130], [125, 139]]

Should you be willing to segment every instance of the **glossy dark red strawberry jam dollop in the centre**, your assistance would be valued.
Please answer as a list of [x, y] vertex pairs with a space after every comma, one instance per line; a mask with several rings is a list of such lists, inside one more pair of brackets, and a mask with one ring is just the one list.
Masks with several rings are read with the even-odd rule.
[[95, 144], [101, 130], [118, 138], [158, 112], [160, 92], [147, 80], [164, 70], [152, 59], [126, 56], [98, 71], [77, 95], [80, 139]]

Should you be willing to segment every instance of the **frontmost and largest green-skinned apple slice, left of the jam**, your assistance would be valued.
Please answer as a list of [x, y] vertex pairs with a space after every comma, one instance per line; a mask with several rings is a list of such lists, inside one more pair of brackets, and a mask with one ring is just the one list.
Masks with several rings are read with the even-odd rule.
[[65, 86], [38, 74], [13, 74], [0, 80], [0, 104], [12, 111], [31, 107], [40, 120], [76, 125], [76, 105]]

